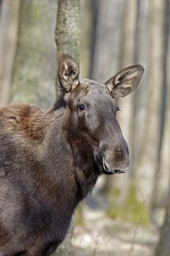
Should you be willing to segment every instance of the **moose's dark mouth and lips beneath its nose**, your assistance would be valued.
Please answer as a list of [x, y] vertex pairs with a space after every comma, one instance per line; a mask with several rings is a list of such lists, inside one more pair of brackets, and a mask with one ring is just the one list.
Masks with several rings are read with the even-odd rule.
[[95, 161], [99, 171], [106, 175], [125, 173], [127, 171], [127, 169], [108, 168], [108, 166], [105, 164], [105, 156], [104, 155], [99, 156], [98, 154], [96, 154], [96, 156], [94, 157], [94, 161]]

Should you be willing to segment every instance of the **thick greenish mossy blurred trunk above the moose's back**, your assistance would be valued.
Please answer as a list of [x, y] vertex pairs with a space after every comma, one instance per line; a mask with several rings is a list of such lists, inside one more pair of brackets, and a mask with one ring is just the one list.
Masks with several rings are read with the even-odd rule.
[[55, 99], [57, 1], [21, 1], [11, 100], [48, 109]]

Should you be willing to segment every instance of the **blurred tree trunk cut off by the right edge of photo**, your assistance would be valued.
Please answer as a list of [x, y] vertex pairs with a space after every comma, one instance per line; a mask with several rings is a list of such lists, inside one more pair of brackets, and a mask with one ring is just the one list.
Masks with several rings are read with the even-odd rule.
[[166, 0], [165, 8], [165, 23], [164, 23], [164, 56], [163, 56], [163, 104], [162, 104], [162, 127], [161, 127], [161, 141], [159, 145], [159, 159], [156, 171], [156, 182], [153, 190], [153, 209], [156, 207], [165, 207], [167, 204], [167, 192], [169, 186], [169, 170], [170, 170], [170, 107], [168, 98], [169, 91], [169, 42], [170, 42], [170, 3]]

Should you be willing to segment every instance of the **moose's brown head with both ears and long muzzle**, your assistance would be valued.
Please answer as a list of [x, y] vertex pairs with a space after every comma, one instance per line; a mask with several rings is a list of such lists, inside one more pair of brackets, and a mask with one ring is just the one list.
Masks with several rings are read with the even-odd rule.
[[79, 81], [77, 62], [65, 53], [59, 57], [61, 94], [69, 111], [68, 138], [75, 158], [80, 153], [85, 160], [93, 157], [100, 173], [125, 173], [129, 168], [128, 146], [116, 120], [119, 106], [115, 97], [133, 92], [143, 72], [141, 65], [134, 65], [104, 84], [90, 79]]

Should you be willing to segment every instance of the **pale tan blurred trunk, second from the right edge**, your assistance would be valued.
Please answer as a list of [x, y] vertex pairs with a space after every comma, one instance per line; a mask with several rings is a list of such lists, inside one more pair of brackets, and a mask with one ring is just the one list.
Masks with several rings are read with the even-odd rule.
[[164, 11], [165, 0], [150, 0], [147, 116], [142, 152], [136, 167], [138, 198], [147, 205], [150, 205], [152, 200], [161, 141], [161, 110], [164, 89]]

